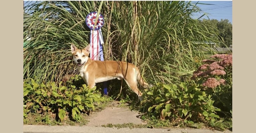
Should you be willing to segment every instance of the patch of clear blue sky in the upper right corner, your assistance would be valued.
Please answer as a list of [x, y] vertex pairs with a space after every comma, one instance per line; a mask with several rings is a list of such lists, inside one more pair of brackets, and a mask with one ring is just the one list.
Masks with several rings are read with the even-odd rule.
[[[193, 3], [198, 1], [192, 1]], [[232, 1], [199, 1], [199, 3], [214, 4], [214, 5], [203, 5], [198, 4], [204, 12], [208, 13], [210, 19], [228, 19], [232, 24]], [[203, 14], [195, 14], [194, 18], [199, 18]], [[201, 19], [208, 19], [207, 16]]]

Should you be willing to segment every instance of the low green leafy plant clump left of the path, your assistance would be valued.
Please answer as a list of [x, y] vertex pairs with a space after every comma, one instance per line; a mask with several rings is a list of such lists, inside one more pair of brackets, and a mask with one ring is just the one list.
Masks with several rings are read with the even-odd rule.
[[[71, 87], [58, 85], [55, 82], [37, 84], [33, 79], [31, 84], [28, 80], [24, 81], [23, 88], [23, 114], [33, 113], [53, 113], [56, 120], [63, 120], [69, 116], [79, 122], [81, 112], [95, 110], [95, 103], [102, 101], [100, 94], [94, 92], [96, 87], [89, 89], [85, 84], [79, 89], [75, 85]], [[94, 93], [93, 93], [94, 92]]]

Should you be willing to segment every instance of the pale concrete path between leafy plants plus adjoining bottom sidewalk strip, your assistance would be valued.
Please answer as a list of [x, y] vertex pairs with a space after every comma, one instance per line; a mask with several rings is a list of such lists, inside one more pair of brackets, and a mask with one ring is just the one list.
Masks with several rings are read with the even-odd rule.
[[117, 104], [107, 107], [100, 112], [93, 112], [88, 117], [90, 122], [86, 126], [43, 126], [23, 125], [23, 133], [232, 133], [232, 131], [213, 131], [195, 128], [109, 128], [107, 124], [134, 123], [143, 124], [140, 113], [129, 108], [117, 107]]

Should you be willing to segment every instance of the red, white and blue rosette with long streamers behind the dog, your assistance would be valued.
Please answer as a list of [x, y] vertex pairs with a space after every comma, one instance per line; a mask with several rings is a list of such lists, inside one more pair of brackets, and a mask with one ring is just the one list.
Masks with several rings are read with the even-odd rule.
[[[104, 61], [103, 47], [104, 44], [101, 27], [104, 25], [104, 17], [99, 14], [98, 20], [96, 20], [97, 12], [91, 12], [86, 16], [86, 25], [91, 29], [90, 36], [90, 57], [92, 60]], [[94, 28], [94, 25], [96, 26]], [[104, 94], [107, 95], [107, 82], [103, 82]]]

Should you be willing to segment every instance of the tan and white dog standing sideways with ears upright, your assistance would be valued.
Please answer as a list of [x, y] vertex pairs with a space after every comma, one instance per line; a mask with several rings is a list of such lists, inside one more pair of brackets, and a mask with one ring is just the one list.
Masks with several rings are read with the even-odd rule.
[[142, 101], [142, 93], [138, 90], [137, 81], [144, 88], [149, 87], [149, 85], [142, 79], [138, 67], [121, 61], [93, 61], [88, 57], [90, 45], [85, 49], [78, 49], [72, 44], [71, 52], [80, 75], [90, 88], [99, 82], [116, 78], [118, 80], [124, 79], [127, 85], [138, 95], [139, 100]]

